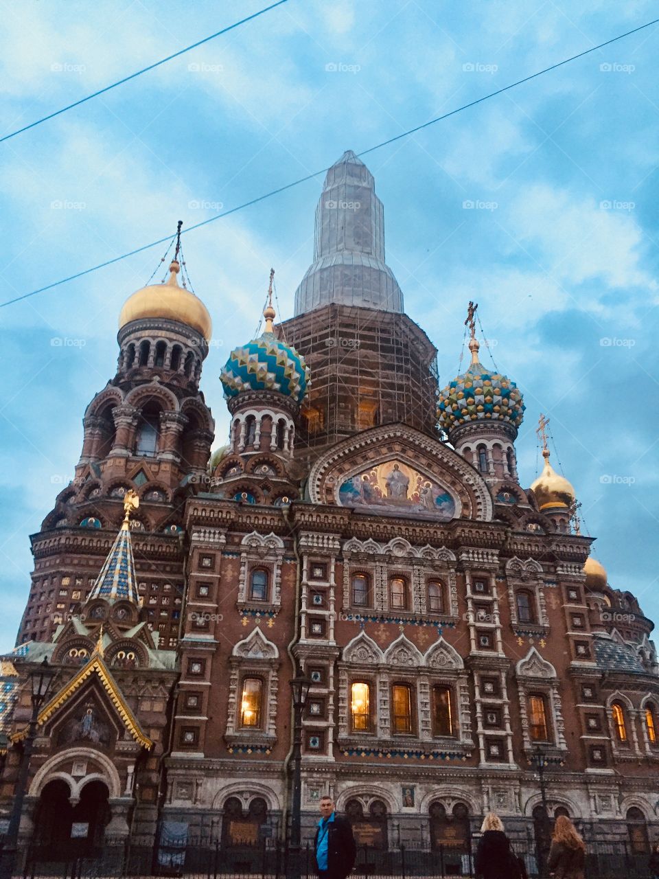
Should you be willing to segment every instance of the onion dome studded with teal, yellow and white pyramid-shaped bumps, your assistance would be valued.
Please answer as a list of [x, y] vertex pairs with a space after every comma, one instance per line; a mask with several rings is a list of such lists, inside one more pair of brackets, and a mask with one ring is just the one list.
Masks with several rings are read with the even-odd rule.
[[[475, 339], [472, 340], [475, 342]], [[472, 421], [507, 421], [518, 427], [525, 405], [518, 386], [507, 376], [489, 372], [478, 360], [478, 343], [472, 349], [472, 363], [439, 392], [438, 420], [446, 431]]]

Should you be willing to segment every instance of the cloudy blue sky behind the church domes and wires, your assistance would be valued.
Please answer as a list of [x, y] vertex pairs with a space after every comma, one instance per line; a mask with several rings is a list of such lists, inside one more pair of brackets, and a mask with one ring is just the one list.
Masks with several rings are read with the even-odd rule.
[[[261, 5], [9, 5], [0, 130]], [[644, 0], [289, 0], [0, 146], [0, 298], [327, 167], [655, 12]], [[655, 619], [658, 40], [655, 25], [366, 157], [385, 205], [387, 263], [438, 347], [441, 380], [456, 372], [474, 299], [497, 367], [525, 395], [522, 482], [537, 472], [543, 411], [594, 554]], [[202, 387], [218, 445], [228, 427], [221, 367], [257, 325], [271, 265], [281, 316], [291, 316], [321, 184], [185, 237], [192, 284], [214, 318]], [[28, 594], [28, 535], [73, 476], [85, 406], [114, 374], [119, 309], [162, 251], [0, 312], [2, 650]]]

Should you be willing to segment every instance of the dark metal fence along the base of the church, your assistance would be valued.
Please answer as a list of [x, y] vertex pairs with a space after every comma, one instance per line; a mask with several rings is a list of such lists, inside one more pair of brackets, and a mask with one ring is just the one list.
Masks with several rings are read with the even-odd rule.
[[[477, 840], [473, 840], [475, 852]], [[530, 877], [546, 875], [542, 855], [516, 844]], [[154, 846], [153, 839], [130, 839], [102, 848], [28, 846], [18, 853], [14, 875], [20, 879], [138, 879], [177, 876], [186, 879], [287, 879], [293, 875], [291, 854], [281, 839], [262, 839], [254, 846], [222, 846], [218, 840], [170, 839]], [[4, 855], [0, 852], [0, 861]], [[636, 854], [624, 842], [597, 842], [587, 846], [586, 879], [649, 879], [649, 854]], [[539, 868], [540, 863], [540, 868]], [[0, 863], [2, 867], [2, 863]], [[313, 846], [301, 850], [302, 879], [315, 876]], [[413, 846], [381, 850], [358, 848], [353, 875], [370, 879], [447, 879], [474, 877], [471, 847], [428, 851]]]

